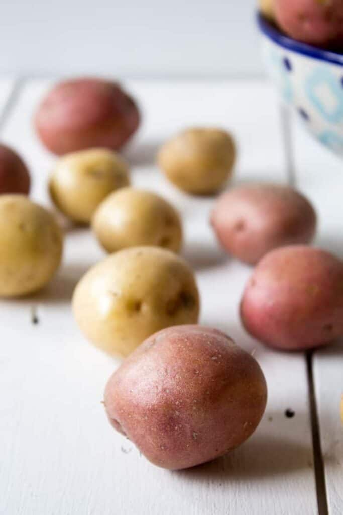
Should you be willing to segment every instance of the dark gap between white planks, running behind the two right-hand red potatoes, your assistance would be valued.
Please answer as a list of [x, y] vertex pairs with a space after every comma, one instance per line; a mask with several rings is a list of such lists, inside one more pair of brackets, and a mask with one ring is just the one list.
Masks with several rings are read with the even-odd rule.
[[[294, 148], [292, 138], [292, 116], [291, 110], [285, 104], [280, 104], [281, 131], [285, 151], [286, 173], [288, 184], [297, 186], [297, 170], [294, 159]], [[320, 443], [320, 428], [316, 401], [316, 389], [313, 379], [313, 355], [310, 350], [304, 353], [306, 357], [306, 370], [309, 389], [309, 407], [311, 415], [311, 430], [314, 458], [314, 472], [316, 479], [317, 504], [319, 515], [329, 515], [324, 462]]]

